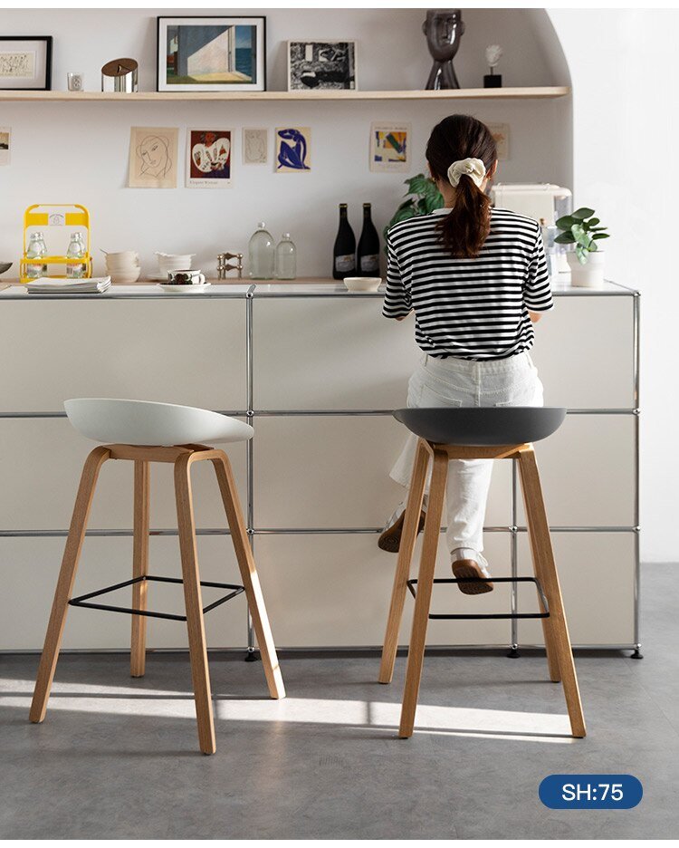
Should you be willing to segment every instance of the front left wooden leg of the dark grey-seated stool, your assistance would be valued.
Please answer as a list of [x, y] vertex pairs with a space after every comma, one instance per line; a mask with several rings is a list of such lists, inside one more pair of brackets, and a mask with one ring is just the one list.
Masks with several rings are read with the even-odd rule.
[[401, 724], [398, 736], [406, 739], [413, 735], [417, 694], [422, 676], [422, 662], [425, 657], [426, 626], [429, 622], [429, 605], [434, 585], [438, 537], [441, 533], [441, 515], [444, 508], [445, 480], [448, 471], [448, 455], [441, 450], [434, 451], [434, 467], [429, 487], [429, 503], [426, 507], [425, 535], [422, 540], [422, 556], [417, 575], [417, 595], [413, 628], [408, 648], [406, 669], [406, 687], [403, 692]]

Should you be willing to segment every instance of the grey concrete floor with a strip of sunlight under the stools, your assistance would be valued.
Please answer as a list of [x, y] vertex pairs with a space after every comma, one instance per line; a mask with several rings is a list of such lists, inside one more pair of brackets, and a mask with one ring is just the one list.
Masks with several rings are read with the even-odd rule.
[[[421, 728], [395, 737], [405, 660], [211, 659], [217, 753], [197, 753], [187, 658], [64, 655], [47, 719], [27, 720], [35, 656], [0, 657], [0, 837], [670, 838], [679, 834], [679, 566], [644, 573], [645, 660], [577, 656], [589, 736], [568, 737], [543, 657], [427, 658]], [[105, 613], [101, 613], [105, 614]], [[454, 625], [453, 625], [454, 626]], [[551, 773], [636, 775], [629, 811], [550, 811]]]

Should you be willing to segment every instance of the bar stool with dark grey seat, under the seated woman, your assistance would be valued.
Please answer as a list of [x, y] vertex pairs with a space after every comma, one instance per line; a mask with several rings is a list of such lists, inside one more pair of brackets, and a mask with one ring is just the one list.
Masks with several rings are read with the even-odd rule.
[[[514, 459], [518, 462], [526, 523], [531, 542], [535, 577], [493, 577], [496, 583], [530, 581], [535, 583], [542, 612], [545, 648], [550, 678], [562, 682], [574, 737], [585, 736], [585, 719], [578, 679], [563, 610], [559, 576], [551, 547], [540, 476], [531, 442], [547, 438], [559, 429], [566, 410], [556, 407], [491, 407], [461, 409], [396, 410], [394, 417], [419, 437], [413, 474], [408, 491], [406, 515], [398, 552], [397, 571], [391, 595], [387, 632], [382, 650], [379, 682], [390, 683], [397, 654], [398, 629], [406, 592], [415, 594], [415, 612], [408, 649], [406, 686], [398, 736], [413, 735], [417, 695], [426, 645], [426, 627], [434, 583], [460, 583], [479, 578], [434, 578], [438, 535], [444, 505], [445, 483], [450, 459]], [[419, 574], [409, 580], [415, 549], [417, 525], [425, 493], [429, 459], [433, 461], [429, 502], [422, 542]], [[506, 613], [493, 618], [535, 617], [535, 613]], [[483, 619], [483, 614], [436, 615], [436, 618]]]

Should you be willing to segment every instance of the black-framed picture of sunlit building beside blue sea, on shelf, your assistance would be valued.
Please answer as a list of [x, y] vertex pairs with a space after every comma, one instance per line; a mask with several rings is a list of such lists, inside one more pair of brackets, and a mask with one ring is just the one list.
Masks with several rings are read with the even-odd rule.
[[263, 92], [266, 18], [158, 17], [158, 92]]

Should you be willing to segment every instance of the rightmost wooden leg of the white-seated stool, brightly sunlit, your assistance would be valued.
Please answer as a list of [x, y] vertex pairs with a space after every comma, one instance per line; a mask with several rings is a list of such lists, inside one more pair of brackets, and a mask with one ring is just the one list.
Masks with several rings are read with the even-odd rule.
[[223, 451], [221, 456], [213, 459], [219, 491], [222, 494], [226, 518], [231, 529], [231, 539], [234, 543], [235, 555], [241, 572], [241, 579], [245, 587], [250, 614], [253, 617], [254, 634], [257, 637], [266, 682], [269, 694], [272, 698], [285, 698], [285, 686], [283, 685], [281, 668], [278, 664], [276, 646], [273, 643], [273, 635], [269, 626], [269, 618], [266, 614], [264, 596], [259, 582], [259, 575], [254, 564], [253, 552], [248, 543], [247, 532], [243, 512], [241, 511], [238, 491], [234, 483], [234, 475], [231, 470], [229, 458]]

